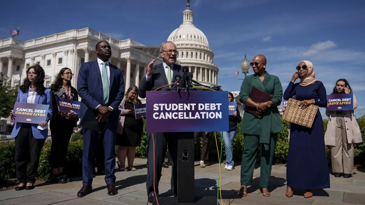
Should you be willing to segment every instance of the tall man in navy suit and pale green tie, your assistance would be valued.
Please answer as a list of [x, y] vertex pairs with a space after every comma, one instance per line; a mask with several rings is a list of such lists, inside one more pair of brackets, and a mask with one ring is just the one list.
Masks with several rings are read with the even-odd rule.
[[[124, 96], [123, 74], [120, 69], [109, 62], [112, 55], [108, 42], [100, 41], [96, 44], [97, 60], [82, 63], [77, 78], [77, 91], [81, 97], [80, 117], [87, 109], [99, 111], [99, 121], [108, 120], [103, 132], [105, 154], [105, 182], [108, 195], [118, 194], [115, 188], [115, 136], [118, 124], [118, 106]], [[84, 133], [84, 151], [82, 154], [82, 188], [78, 197], [92, 192], [94, 173], [94, 150], [96, 148], [98, 132], [82, 128]]]

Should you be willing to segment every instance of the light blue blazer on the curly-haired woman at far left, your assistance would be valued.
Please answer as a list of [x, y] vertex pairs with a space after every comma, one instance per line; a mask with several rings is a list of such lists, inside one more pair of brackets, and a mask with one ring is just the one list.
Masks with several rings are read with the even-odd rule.
[[[28, 98], [28, 90], [27, 92], [23, 93], [22, 90], [18, 88], [18, 97], [16, 97], [16, 101], [27, 103], [27, 98]], [[52, 91], [50, 89], [46, 88], [45, 93], [42, 95], [39, 95], [37, 93], [37, 95], [35, 96], [34, 104], [49, 105], [47, 119], [52, 118], [52, 112], [53, 112]], [[48, 128], [40, 130], [37, 129], [38, 124], [31, 124], [31, 125], [32, 125], [33, 137], [35, 139], [45, 139], [48, 137]], [[15, 123], [13, 131], [11, 132], [11, 136], [13, 138], [15, 138], [18, 135], [20, 126], [22, 126], [22, 123]]]

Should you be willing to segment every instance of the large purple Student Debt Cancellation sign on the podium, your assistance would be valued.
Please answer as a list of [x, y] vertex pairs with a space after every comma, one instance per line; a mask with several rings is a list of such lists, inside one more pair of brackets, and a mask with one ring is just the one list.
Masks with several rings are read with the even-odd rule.
[[228, 131], [228, 91], [147, 91], [146, 132]]

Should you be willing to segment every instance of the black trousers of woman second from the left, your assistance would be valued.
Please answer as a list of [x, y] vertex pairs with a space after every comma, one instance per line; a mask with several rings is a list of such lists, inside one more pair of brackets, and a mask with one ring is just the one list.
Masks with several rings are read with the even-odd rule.
[[50, 161], [52, 169], [65, 167], [67, 148], [72, 136], [74, 124], [74, 119], [66, 119], [59, 115], [52, 118], [50, 122], [52, 138]]

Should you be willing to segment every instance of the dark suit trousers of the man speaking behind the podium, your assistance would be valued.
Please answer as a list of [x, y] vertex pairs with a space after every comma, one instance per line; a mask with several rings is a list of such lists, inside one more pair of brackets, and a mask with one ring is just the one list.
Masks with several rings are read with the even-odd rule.
[[153, 182], [155, 182], [155, 194], [158, 195], [158, 182], [160, 182], [162, 171], [161, 165], [165, 160], [166, 148], [169, 146], [172, 160], [171, 189], [177, 195], [177, 138], [179, 134], [179, 132], [157, 132], [153, 133], [153, 139], [151, 133], [147, 134], [147, 142], [149, 142], [147, 156], [147, 194], [154, 192]]

